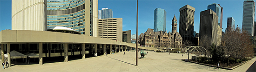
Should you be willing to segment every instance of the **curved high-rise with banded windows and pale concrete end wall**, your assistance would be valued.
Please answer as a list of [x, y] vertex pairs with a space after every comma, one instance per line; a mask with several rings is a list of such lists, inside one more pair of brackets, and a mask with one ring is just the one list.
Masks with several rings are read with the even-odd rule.
[[47, 0], [47, 26], [64, 26], [97, 37], [98, 0]]

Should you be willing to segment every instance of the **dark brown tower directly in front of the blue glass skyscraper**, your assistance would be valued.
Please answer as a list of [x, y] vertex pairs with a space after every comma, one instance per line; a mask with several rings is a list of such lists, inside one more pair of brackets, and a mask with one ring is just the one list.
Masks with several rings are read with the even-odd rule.
[[219, 45], [218, 43], [218, 16], [211, 9], [200, 13], [200, 29], [199, 40], [208, 37], [209, 41]]

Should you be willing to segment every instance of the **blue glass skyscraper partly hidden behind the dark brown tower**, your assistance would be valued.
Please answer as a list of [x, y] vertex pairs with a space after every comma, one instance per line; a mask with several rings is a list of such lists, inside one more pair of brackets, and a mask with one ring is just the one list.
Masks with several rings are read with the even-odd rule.
[[223, 7], [220, 6], [220, 4], [210, 4], [208, 5], [207, 9], [211, 9], [213, 12], [216, 13], [218, 16], [218, 25], [222, 28], [222, 13], [223, 13]]

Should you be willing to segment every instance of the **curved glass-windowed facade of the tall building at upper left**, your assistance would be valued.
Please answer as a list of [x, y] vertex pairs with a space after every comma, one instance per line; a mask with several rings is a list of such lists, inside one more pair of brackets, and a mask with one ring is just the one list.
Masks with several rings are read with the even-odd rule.
[[[47, 26], [64, 26], [85, 35], [86, 0], [47, 0]], [[90, 0], [90, 36], [92, 36], [92, 1]]]

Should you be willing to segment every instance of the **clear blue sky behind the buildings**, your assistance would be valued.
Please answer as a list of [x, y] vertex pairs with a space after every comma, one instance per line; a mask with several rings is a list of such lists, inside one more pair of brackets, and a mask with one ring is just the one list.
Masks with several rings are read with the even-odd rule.
[[[207, 9], [212, 3], [223, 7], [222, 31], [227, 27], [227, 18], [233, 17], [236, 26], [242, 27], [244, 0], [139, 0], [138, 34], [148, 28], [154, 28], [155, 8], [165, 9], [167, 12], [166, 31], [171, 32], [171, 23], [174, 15], [177, 18], [179, 31], [179, 8], [190, 5], [195, 7], [194, 31], [199, 33], [200, 12]], [[0, 0], [0, 30], [11, 29], [11, 0]], [[136, 0], [98, 0], [98, 9], [113, 10], [113, 18], [123, 18], [123, 31], [131, 30], [136, 34]]]

